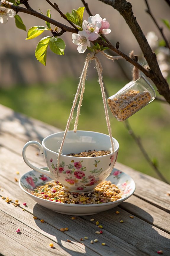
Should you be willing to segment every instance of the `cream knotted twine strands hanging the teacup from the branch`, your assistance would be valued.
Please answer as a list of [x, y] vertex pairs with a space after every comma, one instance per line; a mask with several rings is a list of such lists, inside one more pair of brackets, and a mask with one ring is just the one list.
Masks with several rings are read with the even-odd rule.
[[[83, 94], [84, 94], [84, 91], [85, 91], [85, 79], [86, 79], [88, 64], [89, 64], [89, 61], [93, 61], [93, 60], [95, 60], [96, 69], [97, 69], [97, 72], [98, 72], [98, 79], [99, 79], [98, 81], [99, 81], [100, 87], [101, 87], [102, 99], [103, 99], [105, 116], [106, 116], [106, 123], [107, 123], [108, 131], [109, 131], [110, 141], [111, 141], [111, 153], [114, 152], [114, 143], [113, 143], [112, 135], [111, 135], [111, 127], [110, 127], [110, 121], [109, 121], [109, 114], [108, 114], [106, 97], [105, 97], [105, 92], [104, 92], [104, 85], [103, 85], [102, 75], [101, 75], [103, 69], [102, 69], [102, 66], [101, 66], [101, 63], [100, 63], [98, 57], [96, 57], [95, 54], [96, 53], [88, 53], [88, 55], [87, 55], [87, 57], [85, 59], [85, 64], [84, 64], [84, 67], [83, 67], [83, 70], [82, 70], [82, 73], [81, 73], [81, 76], [80, 76], [80, 82], [79, 82], [79, 85], [77, 87], [77, 91], [76, 91], [75, 98], [74, 98], [74, 101], [73, 101], [73, 105], [72, 105], [72, 108], [71, 108], [71, 111], [70, 111], [70, 115], [69, 115], [69, 118], [68, 118], [68, 121], [67, 121], [67, 125], [66, 125], [66, 129], [65, 129], [65, 132], [64, 132], [64, 136], [63, 136], [63, 139], [62, 139], [62, 142], [61, 142], [61, 146], [59, 148], [57, 167], [59, 167], [60, 156], [61, 156], [64, 140], [66, 138], [70, 122], [71, 122], [71, 120], [73, 118], [73, 112], [74, 112], [74, 109], [75, 109], [75, 106], [76, 106], [76, 103], [77, 103], [78, 96], [80, 94], [80, 99], [79, 99], [79, 104], [77, 106], [77, 114], [76, 114], [75, 124], [74, 124], [74, 132], [77, 131], [78, 119], [79, 119], [79, 115], [80, 115], [80, 108], [81, 108], [81, 105], [82, 105]], [[81, 93], [80, 93], [80, 90], [81, 90]]]

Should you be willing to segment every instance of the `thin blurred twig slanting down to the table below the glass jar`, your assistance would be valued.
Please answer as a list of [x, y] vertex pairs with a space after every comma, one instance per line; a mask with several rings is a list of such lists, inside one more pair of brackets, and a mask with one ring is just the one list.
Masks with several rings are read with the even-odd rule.
[[139, 137], [137, 137], [137, 135], [135, 135], [134, 131], [132, 130], [132, 128], [130, 127], [129, 121], [125, 120], [124, 121], [125, 127], [128, 130], [129, 134], [132, 136], [132, 138], [135, 140], [135, 142], [137, 143], [137, 145], [140, 148], [140, 151], [142, 152], [143, 156], [145, 157], [145, 159], [147, 160], [147, 162], [152, 166], [153, 170], [156, 172], [156, 174], [159, 176], [159, 178], [166, 182], [167, 184], [169, 184], [169, 182], [166, 180], [166, 178], [162, 175], [162, 173], [160, 172], [160, 170], [158, 170], [158, 168], [156, 167], [156, 165], [153, 163], [153, 161], [150, 159], [150, 157], [148, 156], [147, 152], [145, 151], [145, 148], [143, 147], [143, 144], [140, 140]]

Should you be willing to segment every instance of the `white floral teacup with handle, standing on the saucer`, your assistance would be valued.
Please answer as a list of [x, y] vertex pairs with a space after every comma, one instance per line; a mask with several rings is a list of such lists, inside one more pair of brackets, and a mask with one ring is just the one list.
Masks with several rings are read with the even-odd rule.
[[[33, 170], [59, 181], [70, 192], [92, 192], [94, 188], [111, 173], [117, 159], [119, 143], [112, 138], [114, 152], [98, 157], [73, 157], [67, 154], [84, 152], [85, 150], [110, 150], [111, 141], [109, 135], [90, 131], [68, 131], [59, 168], [57, 168], [58, 151], [64, 136], [64, 132], [54, 133], [43, 139], [42, 145], [37, 141], [29, 141], [22, 152], [25, 163]], [[48, 170], [32, 165], [25, 151], [29, 145], [35, 144], [44, 155]]]

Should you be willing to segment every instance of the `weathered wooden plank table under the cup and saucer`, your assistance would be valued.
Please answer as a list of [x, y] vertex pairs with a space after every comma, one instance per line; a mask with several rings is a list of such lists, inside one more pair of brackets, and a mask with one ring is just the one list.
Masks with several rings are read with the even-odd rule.
[[[39, 206], [20, 189], [17, 179], [30, 171], [22, 159], [24, 144], [29, 140], [41, 142], [57, 131], [55, 127], [0, 105], [0, 255], [140, 256], [158, 255], [159, 250], [163, 255], [170, 255], [170, 196], [167, 195], [170, 186], [158, 179], [117, 163], [117, 169], [135, 180], [134, 195], [119, 207], [76, 219]], [[43, 157], [37, 153], [36, 147], [27, 149], [27, 156], [34, 164], [45, 166]], [[12, 201], [7, 203], [3, 197]], [[19, 200], [20, 206], [12, 204], [15, 200]], [[96, 226], [90, 222], [91, 218], [103, 225], [101, 235], [95, 234]], [[124, 222], [120, 223], [120, 219]], [[69, 230], [61, 232], [62, 227]], [[20, 233], [16, 233], [17, 228]], [[89, 239], [80, 241], [85, 236]], [[90, 244], [95, 238], [98, 243]], [[50, 243], [54, 244], [53, 248]]]

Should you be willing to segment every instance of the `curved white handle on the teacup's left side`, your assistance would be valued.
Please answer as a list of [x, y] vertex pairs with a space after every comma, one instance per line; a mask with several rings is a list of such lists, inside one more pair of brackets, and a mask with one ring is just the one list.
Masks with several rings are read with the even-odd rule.
[[27, 147], [30, 146], [30, 145], [36, 145], [36, 146], [38, 146], [38, 148], [39, 148], [39, 150], [40, 150], [40, 153], [43, 154], [43, 147], [42, 147], [42, 145], [41, 145], [38, 141], [30, 140], [30, 141], [28, 141], [28, 142], [24, 145], [23, 150], [22, 150], [22, 157], [23, 157], [23, 159], [24, 159], [24, 162], [25, 162], [30, 168], [32, 168], [33, 170], [35, 170], [35, 171], [37, 171], [37, 172], [39, 172], [39, 173], [45, 174], [45, 175], [47, 175], [48, 177], [54, 179], [54, 176], [52, 176], [52, 174], [50, 173], [50, 171], [46, 171], [46, 170], [43, 170], [43, 169], [41, 169], [41, 168], [38, 168], [38, 167], [32, 165], [32, 164], [28, 161], [28, 159], [27, 159], [27, 157], [26, 157], [26, 155], [25, 155], [25, 151], [26, 151]]

